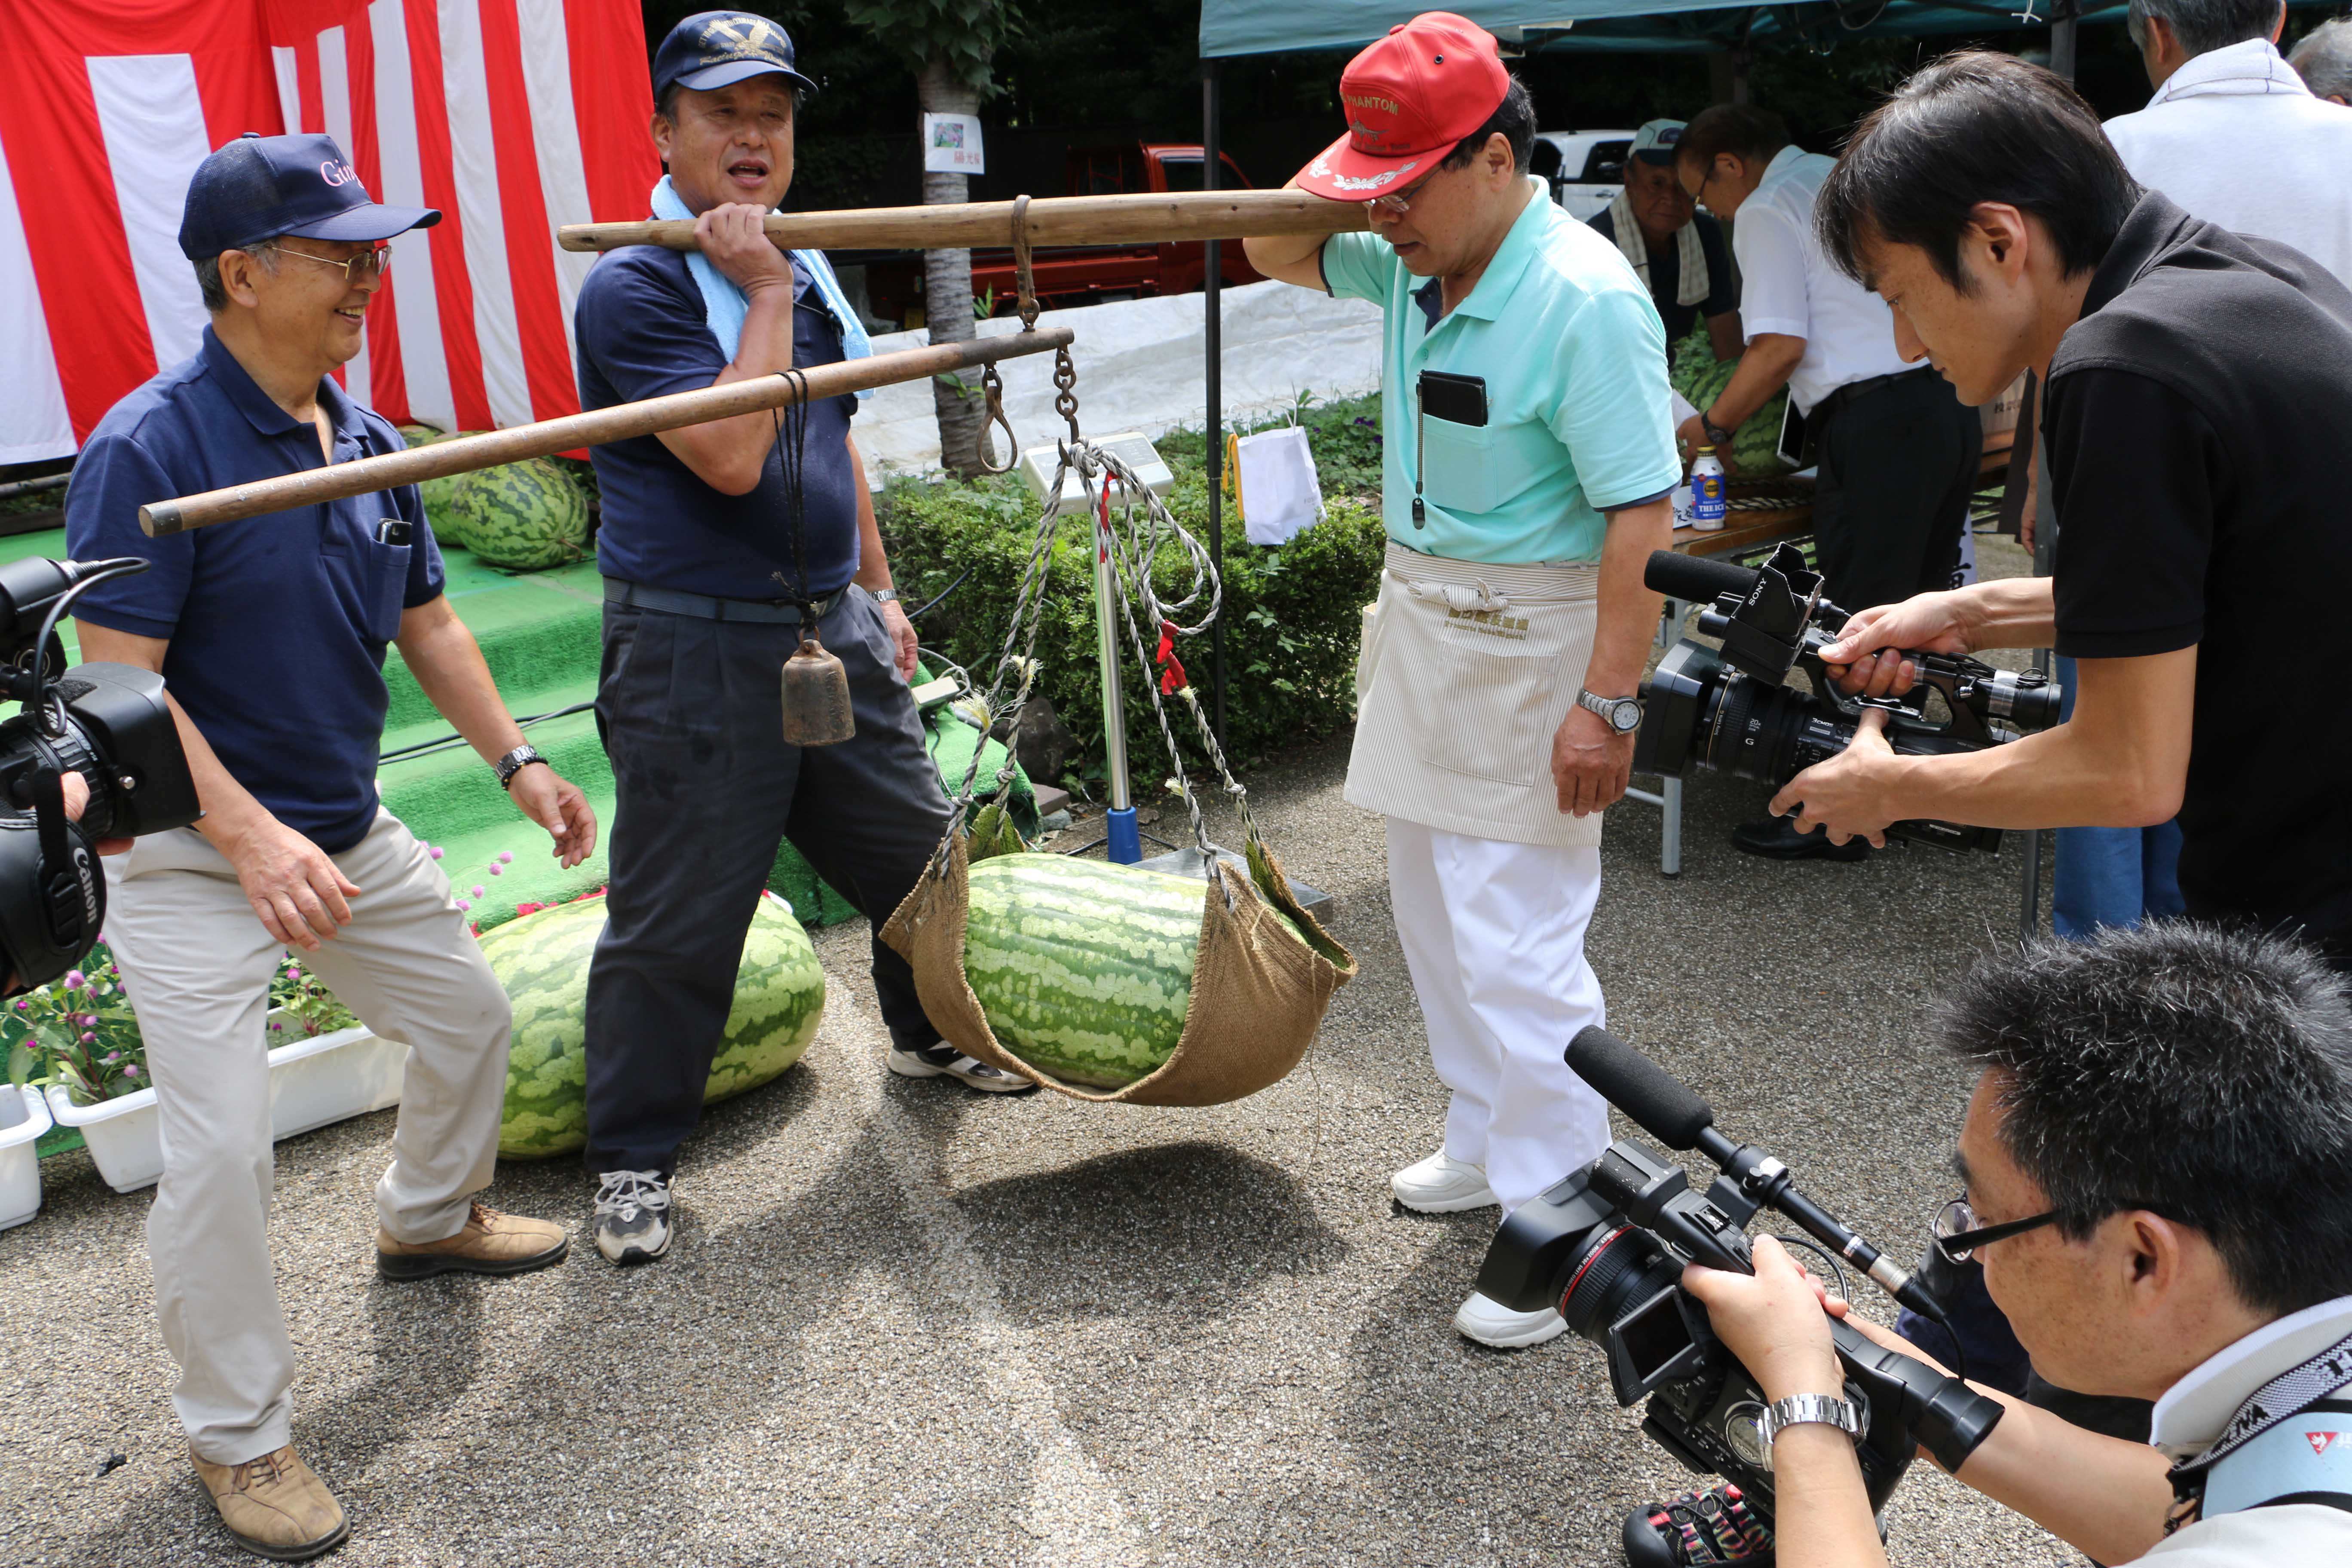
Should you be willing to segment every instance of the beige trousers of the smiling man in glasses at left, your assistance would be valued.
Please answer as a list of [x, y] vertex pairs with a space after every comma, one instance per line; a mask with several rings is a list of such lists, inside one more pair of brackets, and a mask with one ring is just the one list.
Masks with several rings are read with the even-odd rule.
[[[409, 1048], [376, 1215], [400, 1241], [440, 1241], [463, 1229], [499, 1159], [513, 1009], [449, 879], [400, 818], [379, 811], [334, 863], [360, 886], [350, 924], [299, 957], [369, 1030]], [[162, 1124], [148, 1258], [179, 1363], [172, 1403], [200, 1458], [242, 1465], [282, 1448], [294, 1413], [268, 1241], [266, 1016], [285, 950], [193, 827], [139, 839], [106, 860], [106, 943], [139, 1013]]]

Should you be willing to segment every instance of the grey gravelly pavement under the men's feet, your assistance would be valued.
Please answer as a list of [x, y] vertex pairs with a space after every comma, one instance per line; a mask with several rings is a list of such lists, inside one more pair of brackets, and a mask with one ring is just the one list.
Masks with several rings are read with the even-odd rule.
[[[334, 1561], [1613, 1568], [1625, 1509], [1691, 1481], [1592, 1347], [1489, 1352], [1446, 1324], [1491, 1215], [1388, 1199], [1444, 1098], [1343, 766], [1334, 743], [1251, 780], [1362, 976], [1308, 1065], [1240, 1105], [891, 1079], [851, 926], [818, 933], [809, 1058], [687, 1147], [656, 1267], [583, 1248], [383, 1286], [390, 1114], [282, 1143], [294, 1436], [350, 1512]], [[1762, 799], [1698, 780], [1672, 882], [1656, 813], [1611, 811], [1590, 938], [1611, 1027], [1903, 1255], [1950, 1197], [1966, 1100], [1922, 1004], [2016, 931], [2020, 849], [1764, 865], [1724, 837]], [[169, 1413], [146, 1199], [85, 1154], [45, 1178], [40, 1220], [0, 1234], [0, 1561], [249, 1561]], [[506, 1164], [489, 1197], [588, 1211], [569, 1161]], [[1891, 1528], [1896, 1563], [2079, 1561], [1929, 1467]]]

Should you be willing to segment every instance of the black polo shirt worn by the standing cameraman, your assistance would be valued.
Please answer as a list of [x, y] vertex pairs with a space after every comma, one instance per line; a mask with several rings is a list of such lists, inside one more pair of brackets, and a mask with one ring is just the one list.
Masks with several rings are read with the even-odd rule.
[[2352, 954], [2352, 292], [2150, 190], [2044, 404], [2058, 651], [2197, 649], [2180, 893]]

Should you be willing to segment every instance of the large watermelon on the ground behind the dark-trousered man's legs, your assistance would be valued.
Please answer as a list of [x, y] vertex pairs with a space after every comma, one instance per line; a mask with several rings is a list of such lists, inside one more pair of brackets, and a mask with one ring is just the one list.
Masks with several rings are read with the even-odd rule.
[[[588, 959], [604, 933], [604, 900], [581, 898], [482, 936], [482, 957], [515, 1001], [499, 1154], [546, 1159], [588, 1143]], [[826, 971], [790, 905], [760, 896], [734, 1009], [710, 1060], [703, 1105], [757, 1088], [800, 1060], [826, 1011]]]

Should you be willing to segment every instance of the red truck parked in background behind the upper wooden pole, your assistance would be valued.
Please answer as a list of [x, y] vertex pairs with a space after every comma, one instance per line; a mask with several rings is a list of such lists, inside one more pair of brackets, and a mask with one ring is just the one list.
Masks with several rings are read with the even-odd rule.
[[[1218, 158], [1221, 190], [1247, 190], [1249, 176], [1232, 162]], [[1065, 195], [1120, 195], [1129, 190], [1200, 190], [1202, 150], [1200, 143], [1138, 141], [1115, 148], [1070, 148], [1063, 165]], [[1223, 275], [1228, 284], [1258, 282], [1263, 275], [1242, 256], [1242, 244], [1221, 247]], [[1035, 252], [1033, 270], [1037, 299], [1049, 308], [1101, 306], [1115, 299], [1141, 299], [1145, 294], [1190, 294], [1202, 287], [1207, 266], [1202, 242], [1176, 244], [1077, 244], [1068, 249]], [[1014, 252], [971, 252], [971, 294], [990, 303], [995, 315], [1011, 315], [1018, 289], [1014, 282]], [[922, 310], [922, 252], [877, 259], [866, 266], [868, 308], [901, 327], [920, 327]]]

